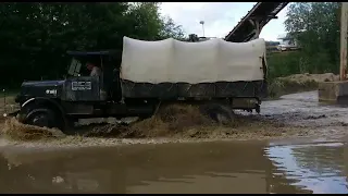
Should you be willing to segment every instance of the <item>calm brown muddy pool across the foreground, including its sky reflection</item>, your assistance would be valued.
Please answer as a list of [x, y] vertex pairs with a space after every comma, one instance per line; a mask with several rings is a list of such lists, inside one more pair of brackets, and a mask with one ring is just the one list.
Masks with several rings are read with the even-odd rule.
[[0, 193], [348, 193], [344, 143], [2, 148]]

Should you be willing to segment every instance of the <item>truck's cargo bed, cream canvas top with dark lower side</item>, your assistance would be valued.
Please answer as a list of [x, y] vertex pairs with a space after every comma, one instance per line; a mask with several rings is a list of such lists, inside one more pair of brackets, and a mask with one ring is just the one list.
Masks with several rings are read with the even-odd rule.
[[144, 41], [124, 37], [124, 98], [262, 98], [266, 96], [265, 41], [212, 39]]

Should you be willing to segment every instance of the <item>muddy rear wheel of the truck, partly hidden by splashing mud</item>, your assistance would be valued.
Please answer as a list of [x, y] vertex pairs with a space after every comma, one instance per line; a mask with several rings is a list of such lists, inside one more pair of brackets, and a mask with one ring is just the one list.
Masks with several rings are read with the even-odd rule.
[[220, 103], [207, 103], [200, 107], [200, 111], [221, 124], [227, 124], [233, 120], [234, 112], [232, 107]]

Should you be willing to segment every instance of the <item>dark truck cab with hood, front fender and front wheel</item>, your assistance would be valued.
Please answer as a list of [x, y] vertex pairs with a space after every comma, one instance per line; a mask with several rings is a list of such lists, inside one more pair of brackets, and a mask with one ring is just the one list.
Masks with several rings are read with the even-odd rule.
[[[67, 51], [67, 76], [58, 81], [24, 82], [15, 101], [22, 123], [65, 130], [78, 119], [138, 115], [122, 102], [120, 71], [112, 51]], [[86, 63], [101, 70], [89, 76]], [[141, 112], [140, 112], [141, 114]]]

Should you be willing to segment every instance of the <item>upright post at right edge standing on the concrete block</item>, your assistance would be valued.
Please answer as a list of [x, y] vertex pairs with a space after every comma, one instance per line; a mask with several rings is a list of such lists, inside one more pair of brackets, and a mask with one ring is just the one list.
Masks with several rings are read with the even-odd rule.
[[347, 33], [348, 33], [348, 2], [341, 2], [340, 9], [340, 69], [339, 79], [346, 79], [347, 68]]

